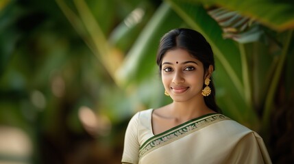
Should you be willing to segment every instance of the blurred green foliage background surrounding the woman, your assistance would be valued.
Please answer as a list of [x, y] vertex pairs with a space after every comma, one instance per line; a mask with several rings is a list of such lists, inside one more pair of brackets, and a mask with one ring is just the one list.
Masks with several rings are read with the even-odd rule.
[[33, 147], [0, 148], [0, 161], [119, 163], [130, 117], [171, 102], [155, 64], [160, 37], [189, 27], [215, 52], [223, 113], [260, 132], [275, 163], [290, 162], [294, 148], [278, 143], [293, 143], [293, 11], [266, 0], [0, 1], [0, 126]]

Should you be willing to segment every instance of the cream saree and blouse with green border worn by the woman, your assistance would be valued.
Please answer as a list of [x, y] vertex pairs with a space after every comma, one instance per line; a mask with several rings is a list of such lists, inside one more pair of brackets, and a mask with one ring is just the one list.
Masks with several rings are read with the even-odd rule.
[[127, 126], [123, 163], [271, 163], [262, 138], [224, 115], [204, 115], [153, 135], [152, 111], [136, 113]]

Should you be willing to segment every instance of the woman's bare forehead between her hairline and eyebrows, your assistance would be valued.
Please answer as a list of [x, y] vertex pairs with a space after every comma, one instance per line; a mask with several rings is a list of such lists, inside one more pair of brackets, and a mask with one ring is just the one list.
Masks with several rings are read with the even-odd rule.
[[164, 57], [162, 58], [163, 62], [176, 62], [176, 61], [198, 61], [193, 55], [188, 53], [188, 51], [184, 49], [173, 49], [167, 51], [167, 53], [164, 54]]

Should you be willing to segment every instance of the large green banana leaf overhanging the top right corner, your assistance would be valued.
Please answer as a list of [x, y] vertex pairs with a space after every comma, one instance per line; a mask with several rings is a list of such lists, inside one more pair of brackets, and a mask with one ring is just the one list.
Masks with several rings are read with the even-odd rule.
[[294, 2], [270, 0], [186, 0], [191, 3], [204, 5], [219, 5], [228, 10], [238, 11], [243, 16], [248, 16], [262, 25], [276, 31], [285, 31], [294, 28]]

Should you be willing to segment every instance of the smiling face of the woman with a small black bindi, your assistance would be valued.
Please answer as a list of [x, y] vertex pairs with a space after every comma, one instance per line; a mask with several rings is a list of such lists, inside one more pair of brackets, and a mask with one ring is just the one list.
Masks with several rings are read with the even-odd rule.
[[[203, 98], [204, 67], [184, 49], [167, 51], [162, 58], [162, 83], [173, 101]], [[207, 75], [210, 77], [210, 73]]]

